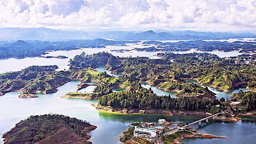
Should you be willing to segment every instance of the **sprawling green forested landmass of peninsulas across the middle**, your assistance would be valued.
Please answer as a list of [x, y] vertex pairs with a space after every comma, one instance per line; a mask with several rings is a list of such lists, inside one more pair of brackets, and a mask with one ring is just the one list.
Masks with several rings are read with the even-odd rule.
[[[254, 89], [255, 66], [251, 63], [235, 63], [235, 58], [219, 58], [209, 53], [158, 53], [158, 56], [161, 59], [119, 58], [105, 52], [93, 55], [82, 53], [71, 59], [68, 71], [55, 71], [57, 66], [31, 66], [22, 71], [3, 73], [0, 76], [0, 92], [4, 94], [21, 90], [20, 97], [26, 98], [26, 94], [34, 97], [31, 94], [55, 92], [57, 86], [71, 80], [81, 81], [78, 90], [89, 86], [86, 82], [94, 81], [96, 88], [93, 93], [69, 92], [63, 97], [99, 98], [100, 106], [128, 109], [126, 112], [131, 113], [152, 109], [161, 109], [161, 113], [168, 110], [215, 113], [216, 106], [220, 110], [229, 106], [230, 101], [217, 100], [215, 93], [207, 87], [203, 88], [185, 79], [196, 79], [201, 84], [224, 91], [232, 91], [240, 84], [248, 84], [248, 88]], [[114, 73], [122, 73], [123, 76], [114, 77], [93, 69], [102, 65]], [[140, 82], [150, 83], [165, 91], [176, 91], [178, 98], [157, 96], [150, 88], [141, 87]], [[126, 91], [113, 93], [113, 88], [123, 88]], [[254, 109], [247, 105], [248, 103], [243, 103], [244, 110]]]

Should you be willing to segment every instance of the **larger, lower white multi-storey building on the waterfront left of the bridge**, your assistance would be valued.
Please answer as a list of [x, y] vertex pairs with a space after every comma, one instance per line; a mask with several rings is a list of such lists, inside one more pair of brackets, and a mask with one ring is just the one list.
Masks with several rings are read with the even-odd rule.
[[157, 139], [157, 129], [154, 128], [141, 128], [138, 126], [135, 126], [135, 129], [133, 130], [133, 135], [135, 137], [141, 136], [141, 137], [149, 137], [151, 141], [155, 141]]

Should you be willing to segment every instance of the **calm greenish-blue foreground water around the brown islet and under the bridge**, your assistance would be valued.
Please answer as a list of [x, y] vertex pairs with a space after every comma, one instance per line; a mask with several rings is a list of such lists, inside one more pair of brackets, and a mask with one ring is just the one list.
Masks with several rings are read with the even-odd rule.
[[[137, 121], [157, 121], [159, 118], [168, 121], [184, 121], [190, 123], [204, 116], [167, 116], [162, 114], [119, 114], [95, 109], [91, 104], [97, 100], [60, 98], [69, 91], [76, 91], [79, 81], [71, 81], [58, 87], [57, 93], [38, 94], [39, 98], [18, 99], [20, 92], [15, 91], [0, 96], [0, 135], [10, 130], [16, 123], [31, 115], [63, 114], [78, 119], [90, 121], [98, 126], [88, 132], [94, 144], [123, 144], [119, 141], [123, 131]], [[197, 125], [195, 125], [198, 128]], [[199, 132], [229, 136], [228, 139], [185, 139], [185, 144], [254, 144], [256, 133], [256, 118], [248, 117], [246, 121], [223, 123], [210, 120], [202, 122]], [[253, 135], [254, 134], [254, 135]], [[206, 141], [206, 142], [205, 142]], [[3, 144], [3, 141], [0, 141]]]

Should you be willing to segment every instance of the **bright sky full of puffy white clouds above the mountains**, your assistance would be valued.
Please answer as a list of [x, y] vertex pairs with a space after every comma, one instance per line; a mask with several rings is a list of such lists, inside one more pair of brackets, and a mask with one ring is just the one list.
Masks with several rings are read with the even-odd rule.
[[256, 0], [0, 0], [0, 27], [256, 30]]

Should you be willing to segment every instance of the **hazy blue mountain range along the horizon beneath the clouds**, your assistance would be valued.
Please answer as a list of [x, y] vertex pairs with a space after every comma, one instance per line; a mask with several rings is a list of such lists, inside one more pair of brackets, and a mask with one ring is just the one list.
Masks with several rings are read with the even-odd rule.
[[107, 38], [113, 40], [219, 40], [228, 38], [256, 38], [254, 33], [212, 33], [192, 30], [138, 31], [71, 31], [49, 28], [0, 28], [0, 40], [78, 40]]

